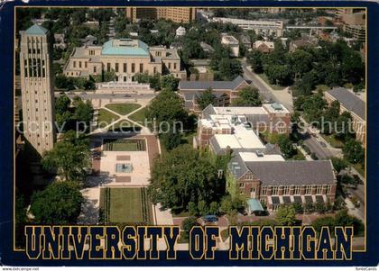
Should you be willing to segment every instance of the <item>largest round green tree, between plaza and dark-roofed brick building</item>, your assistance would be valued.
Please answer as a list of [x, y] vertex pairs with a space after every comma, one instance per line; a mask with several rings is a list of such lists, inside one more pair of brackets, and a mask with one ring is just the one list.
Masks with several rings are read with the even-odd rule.
[[225, 193], [223, 180], [215, 167], [199, 150], [180, 145], [156, 160], [149, 195], [172, 212], [189, 211], [189, 203], [205, 201], [208, 208]]

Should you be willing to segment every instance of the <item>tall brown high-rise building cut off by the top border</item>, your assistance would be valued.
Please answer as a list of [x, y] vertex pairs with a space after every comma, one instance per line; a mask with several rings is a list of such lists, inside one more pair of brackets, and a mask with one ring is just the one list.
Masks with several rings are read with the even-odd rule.
[[132, 23], [141, 19], [171, 20], [174, 23], [191, 23], [196, 19], [193, 7], [126, 7], [126, 18]]

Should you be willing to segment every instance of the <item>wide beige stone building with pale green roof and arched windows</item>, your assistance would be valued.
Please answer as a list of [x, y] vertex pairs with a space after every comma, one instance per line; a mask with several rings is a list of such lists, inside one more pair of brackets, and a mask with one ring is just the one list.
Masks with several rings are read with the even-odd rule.
[[116, 39], [103, 46], [75, 48], [64, 67], [67, 77], [101, 75], [103, 71], [116, 72], [116, 81], [134, 81], [137, 73], [153, 75], [171, 74], [176, 78], [186, 77], [180, 68], [177, 50], [163, 46], [149, 47], [143, 41]]

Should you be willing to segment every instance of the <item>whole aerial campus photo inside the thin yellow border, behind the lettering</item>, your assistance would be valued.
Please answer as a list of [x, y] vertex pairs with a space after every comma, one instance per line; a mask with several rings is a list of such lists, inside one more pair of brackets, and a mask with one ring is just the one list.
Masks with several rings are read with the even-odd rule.
[[[365, 249], [365, 9], [17, 7], [25, 225], [352, 226]], [[159, 246], [165, 246], [160, 239]]]

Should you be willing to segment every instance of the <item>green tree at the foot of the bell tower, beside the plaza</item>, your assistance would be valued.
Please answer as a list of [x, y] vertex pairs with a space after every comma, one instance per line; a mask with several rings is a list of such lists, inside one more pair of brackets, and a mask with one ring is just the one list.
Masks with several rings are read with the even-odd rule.
[[53, 149], [42, 155], [42, 167], [57, 172], [65, 181], [84, 181], [90, 165], [88, 142], [69, 132]]

